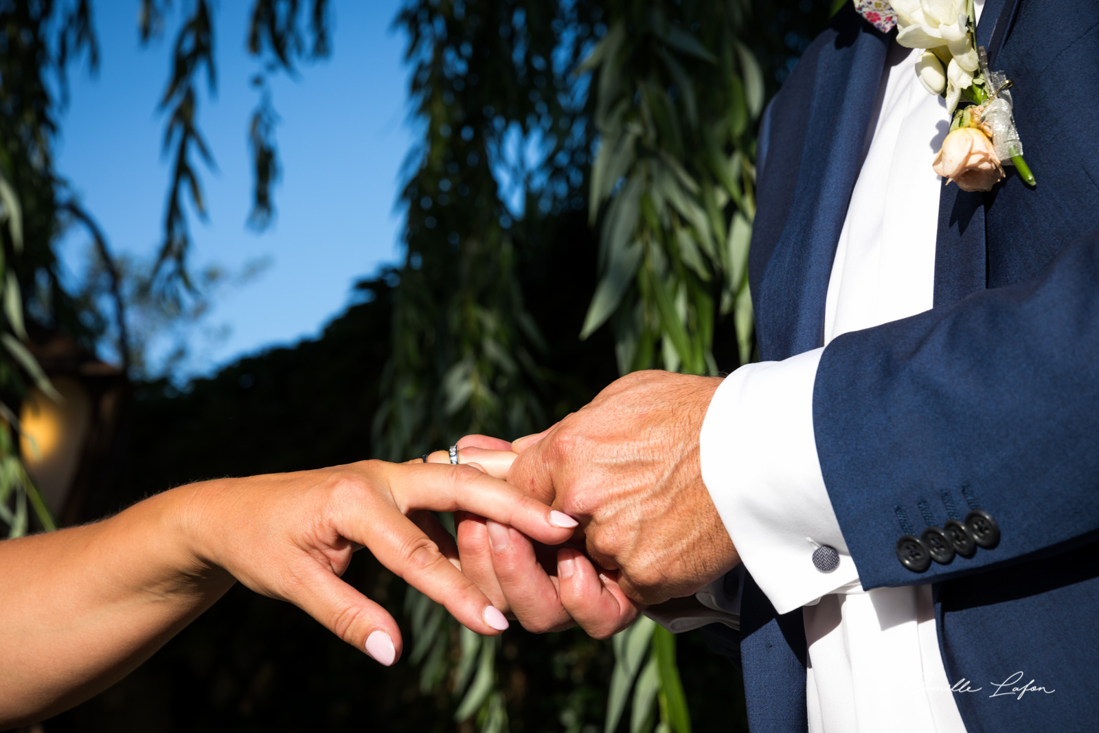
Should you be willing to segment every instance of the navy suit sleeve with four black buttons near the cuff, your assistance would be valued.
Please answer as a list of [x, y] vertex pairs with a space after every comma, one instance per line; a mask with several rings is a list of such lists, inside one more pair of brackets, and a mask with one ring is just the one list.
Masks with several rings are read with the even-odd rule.
[[[813, 432], [866, 589], [941, 581], [1099, 535], [1099, 232], [1042, 276], [844, 334], [824, 349]], [[903, 534], [988, 512], [991, 548], [931, 563]]]

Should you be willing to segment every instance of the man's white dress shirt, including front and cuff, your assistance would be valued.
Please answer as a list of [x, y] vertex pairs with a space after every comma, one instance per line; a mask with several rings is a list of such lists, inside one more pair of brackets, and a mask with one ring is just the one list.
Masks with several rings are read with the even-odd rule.
[[[978, 18], [983, 4], [975, 2]], [[829, 280], [825, 346], [932, 307], [943, 182], [931, 162], [950, 118], [915, 76], [919, 54], [896, 42], [889, 48]], [[863, 590], [832, 510], [812, 422], [823, 351], [750, 364], [722, 382], [702, 426], [702, 477], [744, 567], [775, 609], [802, 607], [812, 733], [964, 733], [931, 587]], [[813, 565], [820, 545], [840, 553], [832, 573]]]

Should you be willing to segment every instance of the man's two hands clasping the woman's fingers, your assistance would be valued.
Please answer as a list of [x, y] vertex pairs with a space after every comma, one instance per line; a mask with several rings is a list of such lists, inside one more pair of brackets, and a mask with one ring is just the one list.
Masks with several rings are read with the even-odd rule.
[[634, 599], [689, 595], [733, 567], [739, 557], [699, 471], [698, 435], [718, 384], [639, 373], [514, 444], [464, 437], [460, 460], [491, 466], [490, 474], [577, 512], [585, 526], [574, 543], [621, 570], [596, 567], [576, 549], [554, 553], [511, 527], [460, 513], [463, 573], [529, 630], [579, 623], [606, 637], [636, 618]]

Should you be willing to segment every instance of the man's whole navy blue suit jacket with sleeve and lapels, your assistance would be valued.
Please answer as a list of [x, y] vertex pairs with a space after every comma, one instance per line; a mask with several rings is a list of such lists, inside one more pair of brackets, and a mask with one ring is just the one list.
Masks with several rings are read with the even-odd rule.
[[[750, 273], [764, 360], [823, 343], [890, 38], [841, 11], [763, 121]], [[829, 345], [817, 448], [863, 586], [933, 584], [947, 678], [984, 688], [955, 693], [967, 729], [1096, 730], [1099, 2], [987, 0], [978, 43], [1014, 81], [1037, 187], [1009, 168], [988, 193], [943, 188], [934, 308]], [[973, 503], [998, 520], [998, 546], [900, 564], [900, 535]], [[801, 611], [777, 615], [751, 578], [740, 655], [752, 730], [804, 731]], [[1015, 671], [1055, 692], [989, 697]]]

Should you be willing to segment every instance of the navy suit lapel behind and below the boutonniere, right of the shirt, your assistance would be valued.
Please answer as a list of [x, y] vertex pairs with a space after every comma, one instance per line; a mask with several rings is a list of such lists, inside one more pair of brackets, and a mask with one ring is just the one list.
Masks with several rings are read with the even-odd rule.
[[[977, 24], [977, 45], [995, 60], [1011, 26], [1019, 0], [986, 0]], [[946, 306], [988, 285], [985, 195], [944, 186], [939, 197], [935, 238], [934, 304]]]

